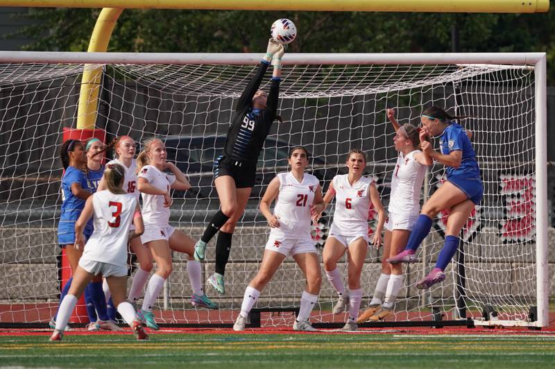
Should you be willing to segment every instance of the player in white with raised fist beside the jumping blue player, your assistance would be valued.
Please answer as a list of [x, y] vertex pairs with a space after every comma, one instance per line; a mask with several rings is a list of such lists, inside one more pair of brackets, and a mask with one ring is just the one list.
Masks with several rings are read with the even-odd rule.
[[384, 320], [393, 315], [393, 304], [403, 282], [400, 264], [389, 264], [387, 259], [398, 255], [407, 240], [420, 214], [420, 191], [426, 175], [427, 166], [433, 164], [432, 158], [418, 150], [420, 141], [427, 140], [427, 131], [418, 130], [411, 124], [400, 124], [395, 120], [395, 110], [388, 109], [387, 117], [395, 129], [393, 144], [399, 155], [391, 177], [391, 196], [384, 235], [382, 274], [368, 309], [360, 314], [357, 323]]

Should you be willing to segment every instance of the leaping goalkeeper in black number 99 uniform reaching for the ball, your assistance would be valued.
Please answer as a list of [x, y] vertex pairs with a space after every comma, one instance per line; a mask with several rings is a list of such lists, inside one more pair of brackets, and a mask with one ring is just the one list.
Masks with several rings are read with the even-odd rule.
[[[232, 123], [228, 130], [223, 155], [214, 163], [214, 185], [218, 191], [221, 209], [214, 214], [204, 231], [203, 237], [195, 245], [195, 259], [205, 258], [205, 248], [212, 237], [219, 232], [216, 241], [215, 273], [208, 282], [221, 295], [225, 294], [223, 274], [230, 256], [231, 239], [235, 225], [243, 214], [255, 185], [256, 164], [260, 151], [273, 121], [278, 119], [278, 95], [281, 81], [281, 58], [284, 46], [270, 40], [266, 55], [237, 101]], [[259, 90], [262, 78], [270, 63], [273, 75], [270, 92]]]

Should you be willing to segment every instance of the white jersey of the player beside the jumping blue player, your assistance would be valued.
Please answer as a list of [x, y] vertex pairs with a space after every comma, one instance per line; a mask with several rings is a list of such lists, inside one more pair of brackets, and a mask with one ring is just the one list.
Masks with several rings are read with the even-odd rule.
[[414, 159], [420, 150], [411, 151], [407, 156], [399, 153], [391, 178], [391, 197], [388, 212], [417, 216], [420, 213], [420, 189], [426, 175], [426, 166]]

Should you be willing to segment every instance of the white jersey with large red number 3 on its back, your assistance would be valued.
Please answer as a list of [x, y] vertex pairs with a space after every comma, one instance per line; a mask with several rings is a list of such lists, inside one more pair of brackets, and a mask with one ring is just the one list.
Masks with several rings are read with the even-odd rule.
[[85, 245], [83, 259], [126, 266], [129, 226], [137, 206], [134, 194], [108, 190], [92, 196], [94, 232]]

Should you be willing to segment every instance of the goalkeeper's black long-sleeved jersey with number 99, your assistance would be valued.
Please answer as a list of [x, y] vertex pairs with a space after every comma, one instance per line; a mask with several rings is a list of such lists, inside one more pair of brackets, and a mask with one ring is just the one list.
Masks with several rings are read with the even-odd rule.
[[258, 91], [266, 69], [268, 69], [268, 63], [261, 62], [256, 75], [237, 101], [237, 107], [233, 113], [224, 153], [226, 157], [237, 162], [256, 165], [275, 119], [280, 94], [280, 78], [272, 78], [266, 108], [257, 114], [253, 112], [253, 97]]

